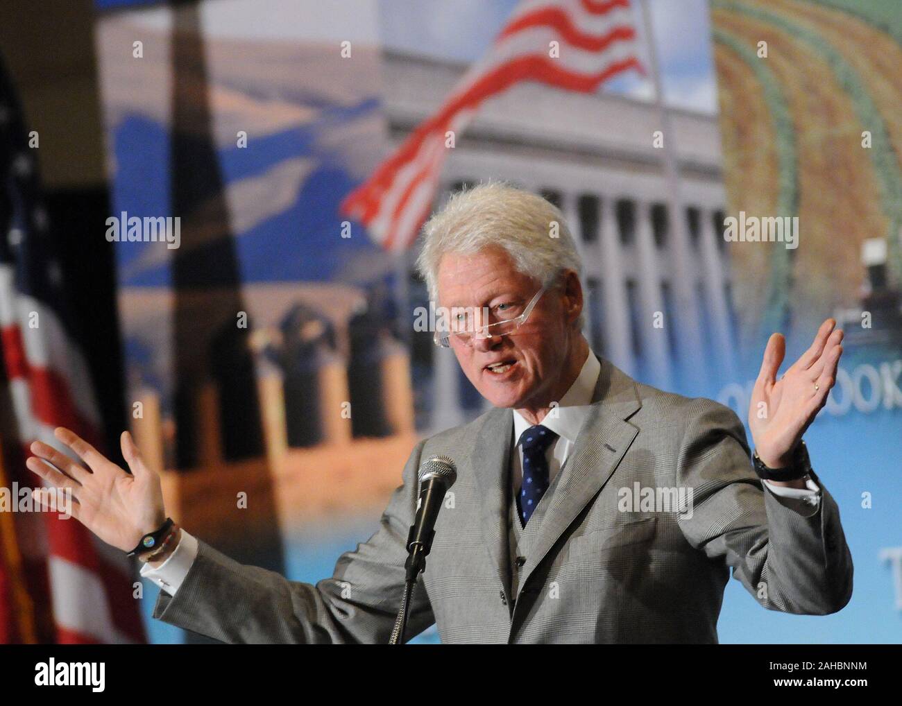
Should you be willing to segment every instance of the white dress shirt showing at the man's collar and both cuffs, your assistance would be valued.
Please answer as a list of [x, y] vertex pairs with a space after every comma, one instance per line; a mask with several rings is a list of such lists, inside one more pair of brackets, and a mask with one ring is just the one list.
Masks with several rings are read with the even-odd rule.
[[[567, 457], [573, 450], [576, 436], [589, 416], [595, 384], [598, 382], [598, 375], [601, 371], [601, 363], [598, 362], [595, 354], [589, 351], [583, 363], [583, 368], [579, 371], [579, 375], [570, 386], [570, 389], [566, 391], [560, 403], [552, 408], [539, 422], [539, 424], [557, 434], [557, 439], [548, 446], [545, 452], [548, 456], [549, 481], [555, 479], [555, 476], [564, 467]], [[512, 413], [513, 444], [516, 446], [517, 453], [511, 454], [511, 478], [513, 488], [518, 489], [523, 478], [523, 449], [520, 445], [520, 436], [532, 425], [516, 409]], [[816, 507], [821, 500], [820, 488], [810, 478], [806, 483], [808, 489], [804, 490], [800, 488], [783, 488], [771, 484], [770, 481], [764, 481], [769, 491], [779, 498], [789, 502], [795, 500], [805, 503], [809, 507]], [[179, 544], [169, 558], [155, 569], [150, 564], [144, 564], [141, 569], [141, 575], [150, 579], [162, 591], [174, 596], [176, 591], [179, 590], [181, 583], [185, 580], [185, 576], [188, 575], [191, 564], [194, 564], [197, 556], [198, 540], [182, 529]]]

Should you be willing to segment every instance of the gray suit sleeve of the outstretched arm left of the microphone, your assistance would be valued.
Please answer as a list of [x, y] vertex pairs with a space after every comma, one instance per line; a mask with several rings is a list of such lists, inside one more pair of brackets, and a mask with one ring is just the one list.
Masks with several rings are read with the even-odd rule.
[[[338, 559], [331, 578], [309, 583], [246, 566], [198, 540], [198, 556], [153, 617], [228, 643], [387, 644], [404, 586], [405, 543], [417, 505], [425, 440], [410, 454], [378, 531]], [[435, 622], [422, 579], [413, 591], [407, 637]]]

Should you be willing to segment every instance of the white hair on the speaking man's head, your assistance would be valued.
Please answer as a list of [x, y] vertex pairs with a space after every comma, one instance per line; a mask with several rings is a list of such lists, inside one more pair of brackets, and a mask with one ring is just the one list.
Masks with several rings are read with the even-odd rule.
[[[514, 269], [553, 284], [564, 270], [582, 276], [583, 262], [557, 206], [522, 188], [488, 181], [458, 191], [423, 226], [417, 270], [429, 298], [438, 299], [438, 265], [446, 252], [474, 254], [490, 246], [503, 248]], [[576, 322], [582, 328], [584, 315]]]

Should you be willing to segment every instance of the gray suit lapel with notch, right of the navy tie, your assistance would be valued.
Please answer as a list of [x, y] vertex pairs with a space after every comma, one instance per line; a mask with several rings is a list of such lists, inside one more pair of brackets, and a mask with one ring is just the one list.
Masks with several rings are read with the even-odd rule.
[[[603, 358], [599, 361], [602, 370], [595, 385], [592, 412], [576, 437], [557, 488], [548, 498], [548, 507], [543, 509], [541, 503], [536, 509], [535, 514], [541, 512], [540, 525], [523, 566], [520, 591], [566, 528], [601, 491], [639, 433], [626, 421], [641, 407], [635, 383], [611, 362]], [[530, 521], [538, 519], [535, 514]]]

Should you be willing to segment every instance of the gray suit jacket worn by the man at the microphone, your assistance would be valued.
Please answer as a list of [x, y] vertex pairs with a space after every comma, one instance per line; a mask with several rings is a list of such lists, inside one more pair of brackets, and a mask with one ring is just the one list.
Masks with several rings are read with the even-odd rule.
[[[835, 501], [818, 509], [762, 487], [738, 417], [633, 381], [602, 360], [591, 416], [530, 524], [526, 561], [509, 556], [513, 420], [492, 409], [417, 444], [378, 531], [316, 586], [245, 566], [204, 542], [153, 617], [225, 642], [386, 643], [404, 581], [417, 470], [455, 459], [408, 636], [443, 642], [713, 643], [730, 569], [770, 610], [823, 615], [851, 598], [852, 564]], [[691, 488], [694, 509], [621, 511], [621, 488]], [[453, 507], [452, 507], [453, 506]], [[511, 571], [519, 573], [511, 595]]]

